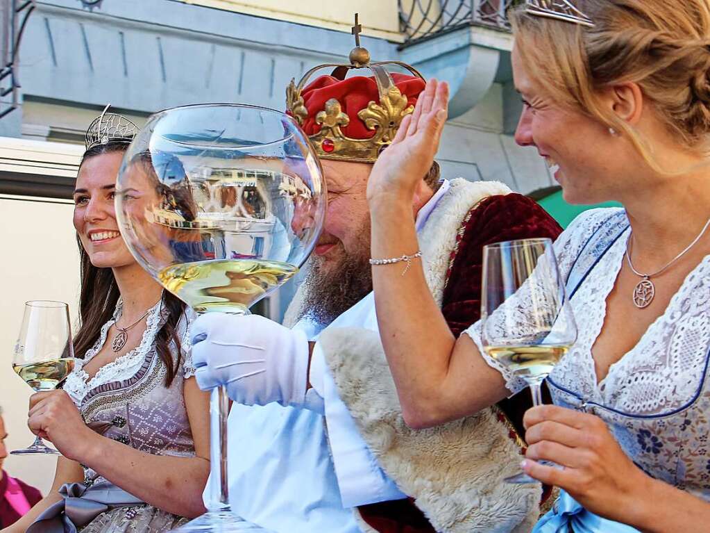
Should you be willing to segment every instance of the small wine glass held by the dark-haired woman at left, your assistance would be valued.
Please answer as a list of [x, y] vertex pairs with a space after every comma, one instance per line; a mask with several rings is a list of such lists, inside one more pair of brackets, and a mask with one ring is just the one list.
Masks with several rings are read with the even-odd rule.
[[[74, 369], [74, 345], [69, 306], [60, 301], [28, 301], [12, 368], [35, 392], [54, 390]], [[39, 437], [29, 448], [10, 453], [55, 453]]]

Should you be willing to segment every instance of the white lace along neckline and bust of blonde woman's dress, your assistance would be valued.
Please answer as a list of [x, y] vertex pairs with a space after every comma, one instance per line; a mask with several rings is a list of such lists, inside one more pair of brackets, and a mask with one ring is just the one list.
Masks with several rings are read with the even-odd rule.
[[[555, 369], [552, 379], [586, 400], [632, 416], [682, 409], [694, 401], [704, 382], [706, 346], [710, 344], [710, 256], [686, 277], [665, 312], [649, 325], [639, 342], [596, 384], [591, 347], [601, 331], [606, 296], [611, 291], [603, 281], [613, 271], [613, 262], [621, 268], [623, 252], [623, 245], [610, 249], [608, 263], [600, 264], [599, 272], [589, 280], [590, 287], [579, 295], [586, 312], [581, 329], [586, 331], [569, 358]], [[594, 290], [594, 286], [599, 289]]]

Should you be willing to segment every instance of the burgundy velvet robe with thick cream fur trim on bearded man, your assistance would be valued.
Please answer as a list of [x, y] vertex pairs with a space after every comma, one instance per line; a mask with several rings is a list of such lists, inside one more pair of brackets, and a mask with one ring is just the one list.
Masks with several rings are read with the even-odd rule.
[[[501, 183], [452, 181], [420, 232], [419, 242], [427, 284], [454, 335], [479, 318], [485, 244], [527, 237], [554, 239], [559, 232], [559, 225], [542, 208], [510, 193]], [[300, 310], [302, 290], [285, 323], [293, 323]], [[529, 393], [465, 419], [414, 430], [404, 423], [376, 333], [335, 328], [324, 330], [319, 342], [339, 396], [368, 448], [400, 490], [410, 495], [408, 500], [359, 507], [364, 531], [527, 533], [532, 529], [540, 512], [539, 486], [503, 482], [519, 470], [523, 443], [518, 432], [530, 407]]]

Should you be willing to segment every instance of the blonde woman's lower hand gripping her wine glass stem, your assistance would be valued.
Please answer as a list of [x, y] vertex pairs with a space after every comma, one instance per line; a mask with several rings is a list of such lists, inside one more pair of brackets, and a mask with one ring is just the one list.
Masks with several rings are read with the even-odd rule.
[[[651, 481], [618, 445], [606, 424], [592, 414], [555, 405], [525, 413], [523, 470], [533, 478], [566, 490], [585, 509], [626, 522]], [[545, 466], [547, 459], [564, 469]]]

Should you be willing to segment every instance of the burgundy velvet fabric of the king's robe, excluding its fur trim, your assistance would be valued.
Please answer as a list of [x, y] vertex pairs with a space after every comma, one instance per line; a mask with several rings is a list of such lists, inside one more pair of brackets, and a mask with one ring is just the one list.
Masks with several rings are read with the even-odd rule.
[[[562, 232], [557, 222], [537, 203], [520, 194], [489, 196], [474, 206], [464, 218], [457, 245], [452, 252], [444, 288], [442, 312], [457, 337], [481, 316], [481, 269], [486, 244], [550, 237]], [[547, 389], [546, 402], [550, 402]], [[510, 438], [523, 443], [523, 414], [532, 407], [530, 392], [524, 390], [498, 403], [501, 424], [510, 429]], [[524, 453], [525, 448], [520, 448]], [[543, 502], [550, 495], [545, 488]], [[424, 514], [412, 498], [359, 507], [368, 525], [380, 533], [433, 533]]]

